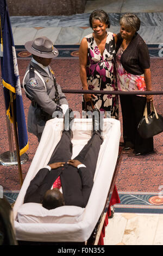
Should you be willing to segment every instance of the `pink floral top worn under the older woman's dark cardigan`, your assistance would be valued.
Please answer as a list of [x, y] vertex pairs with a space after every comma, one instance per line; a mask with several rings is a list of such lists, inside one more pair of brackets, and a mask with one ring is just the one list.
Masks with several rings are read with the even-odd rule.
[[[118, 49], [116, 58], [115, 58], [115, 66], [116, 66], [116, 77], [117, 77], [117, 86], [118, 90], [123, 91], [134, 91], [134, 90], [146, 90], [146, 83], [144, 75], [133, 75], [127, 72], [122, 64], [121, 64], [121, 56], [125, 50], [123, 50], [122, 46]], [[144, 96], [145, 95], [137, 95]]]

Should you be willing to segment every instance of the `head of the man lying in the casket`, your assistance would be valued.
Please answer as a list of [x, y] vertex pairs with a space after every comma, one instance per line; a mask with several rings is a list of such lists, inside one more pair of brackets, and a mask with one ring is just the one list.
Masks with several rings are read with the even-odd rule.
[[42, 206], [48, 210], [65, 205], [64, 197], [58, 188], [46, 191], [43, 196]]

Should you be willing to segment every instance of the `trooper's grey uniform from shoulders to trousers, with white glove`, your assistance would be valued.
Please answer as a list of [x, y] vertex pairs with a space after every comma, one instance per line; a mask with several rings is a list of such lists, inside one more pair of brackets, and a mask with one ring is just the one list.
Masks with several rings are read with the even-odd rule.
[[23, 79], [23, 88], [32, 101], [28, 111], [28, 132], [34, 133], [38, 139], [53, 113], [68, 108], [66, 96], [56, 83], [54, 72], [50, 66], [46, 68], [47, 72], [31, 61]]

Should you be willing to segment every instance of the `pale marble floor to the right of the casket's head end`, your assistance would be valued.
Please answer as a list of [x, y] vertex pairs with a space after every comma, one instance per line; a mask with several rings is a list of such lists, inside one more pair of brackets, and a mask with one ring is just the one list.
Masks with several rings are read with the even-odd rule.
[[115, 213], [104, 245], [163, 245], [163, 215]]

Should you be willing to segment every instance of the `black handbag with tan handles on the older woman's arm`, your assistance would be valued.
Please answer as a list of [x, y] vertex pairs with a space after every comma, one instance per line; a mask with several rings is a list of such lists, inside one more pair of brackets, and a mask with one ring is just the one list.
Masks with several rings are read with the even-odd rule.
[[150, 114], [147, 113], [146, 103], [143, 117], [137, 126], [137, 131], [140, 136], [145, 139], [151, 138], [163, 131], [163, 117], [156, 112], [153, 101], [151, 102]]

